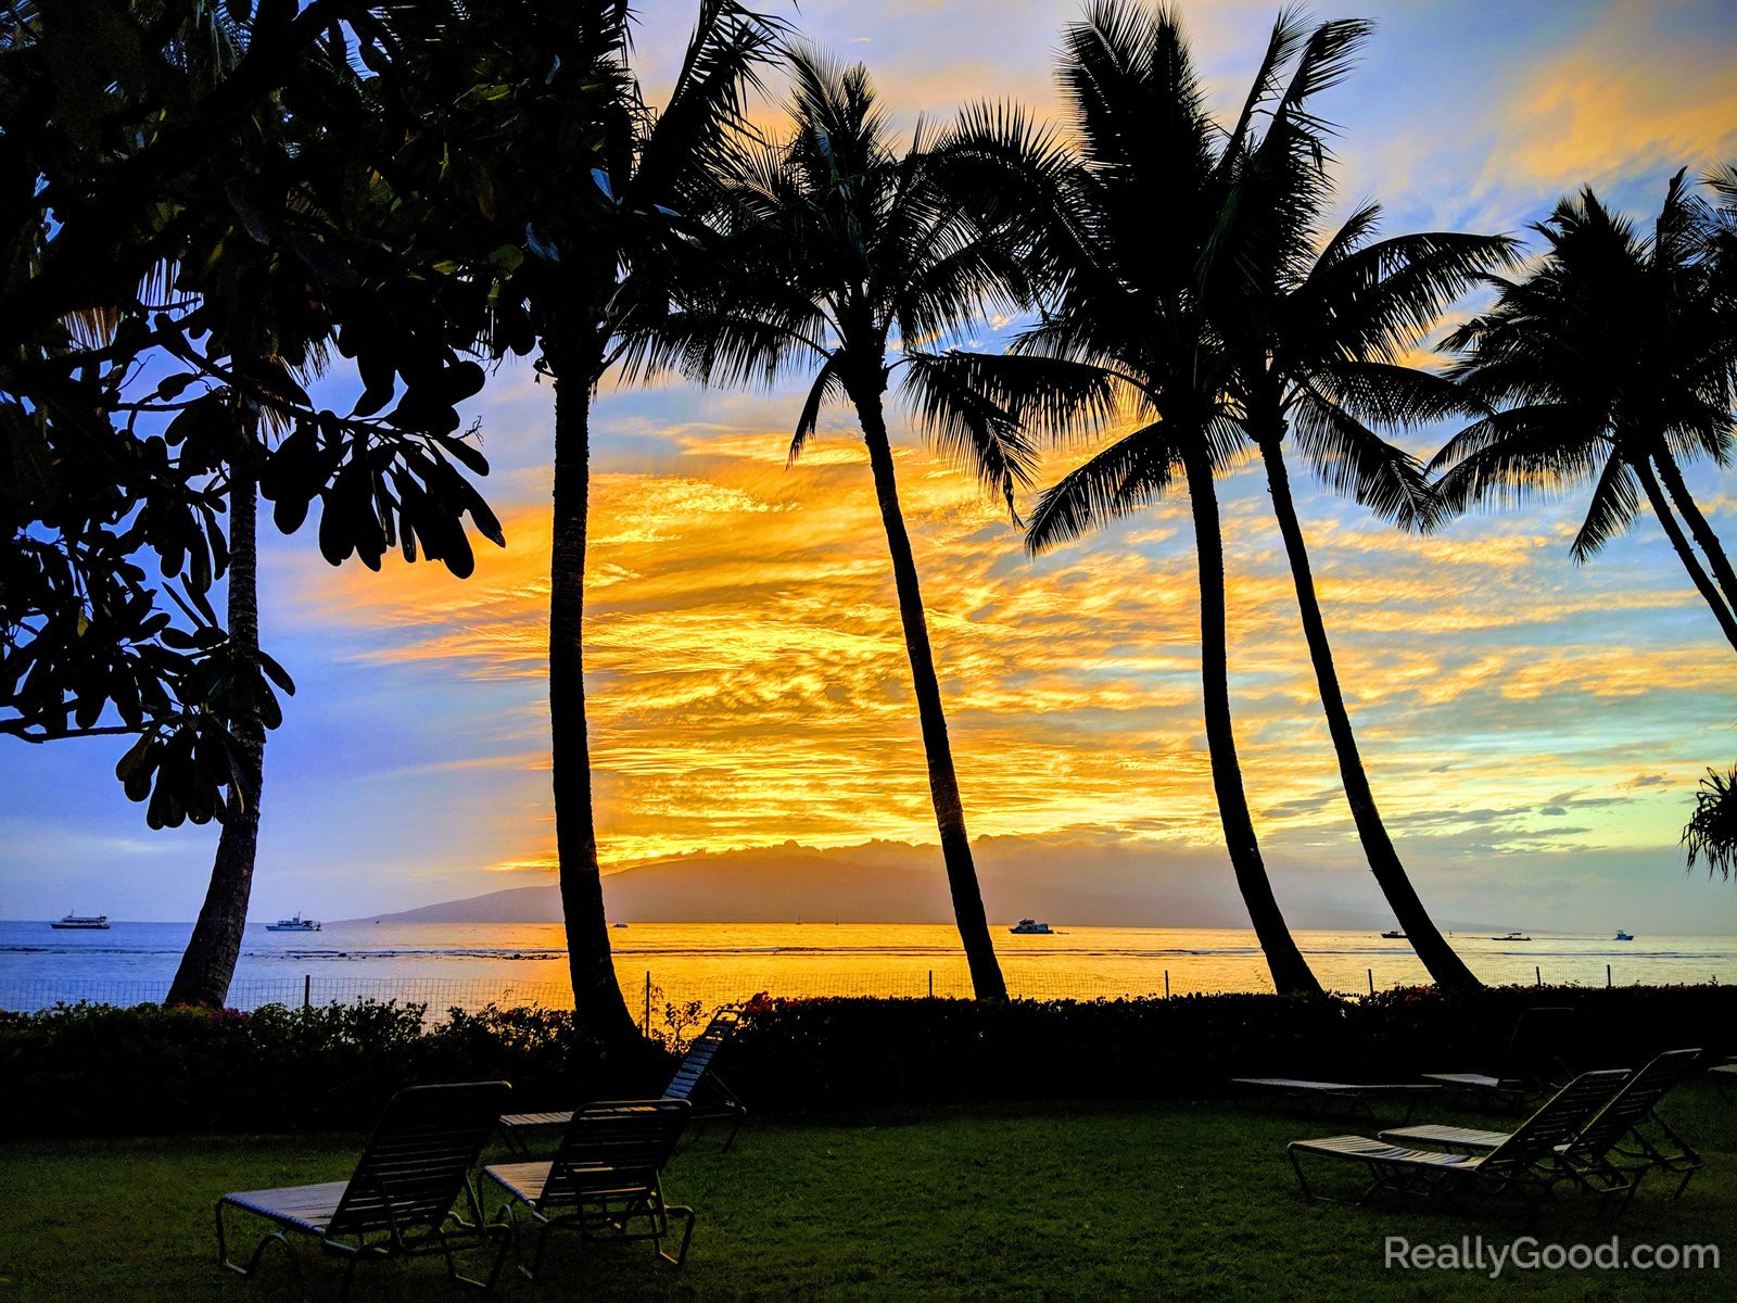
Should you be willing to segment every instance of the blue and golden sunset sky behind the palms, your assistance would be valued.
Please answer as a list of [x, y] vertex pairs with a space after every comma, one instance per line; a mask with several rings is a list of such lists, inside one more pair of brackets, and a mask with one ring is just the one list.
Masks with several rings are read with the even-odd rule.
[[[641, 10], [657, 99], [693, 5]], [[976, 99], [1053, 111], [1051, 54], [1077, 12], [806, 0], [794, 21], [867, 63], [908, 129]], [[1584, 184], [1645, 219], [1676, 169], [1737, 160], [1723, 3], [1350, 12], [1376, 31], [1320, 108], [1339, 127], [1341, 210], [1379, 200], [1384, 233], [1523, 235]], [[1195, 0], [1183, 16], [1230, 111], [1275, 9]], [[776, 125], [778, 99], [763, 122]], [[985, 321], [973, 344], [997, 349], [1009, 330]], [[867, 459], [832, 408], [785, 464], [802, 387], [665, 380], [596, 401], [585, 655], [604, 872], [785, 841], [936, 841]], [[479, 542], [469, 580], [438, 565], [334, 570], [311, 525], [262, 539], [262, 636], [299, 691], [266, 751], [252, 917], [552, 881], [551, 398], [505, 365], [471, 407], [507, 549]], [[1186, 497], [1032, 559], [1001, 504], [902, 417], [893, 433], [973, 836], [1049, 848], [1058, 872], [1108, 855], [1150, 865], [1155, 893], [1185, 876], [1232, 896]], [[1428, 457], [1450, 433], [1397, 441]], [[1082, 455], [1049, 452], [1039, 486]], [[1737, 546], [1730, 476], [1688, 480]], [[1737, 931], [1737, 884], [1685, 872], [1678, 850], [1697, 780], [1737, 757], [1730, 648], [1650, 514], [1575, 566], [1584, 488], [1416, 539], [1299, 464], [1292, 483], [1364, 759], [1426, 905], [1536, 929]], [[1237, 742], [1275, 890], [1304, 924], [1381, 917], [1263, 476], [1244, 466], [1219, 493]], [[149, 830], [113, 780], [123, 749], [0, 740], [0, 917], [195, 916], [215, 827]]]

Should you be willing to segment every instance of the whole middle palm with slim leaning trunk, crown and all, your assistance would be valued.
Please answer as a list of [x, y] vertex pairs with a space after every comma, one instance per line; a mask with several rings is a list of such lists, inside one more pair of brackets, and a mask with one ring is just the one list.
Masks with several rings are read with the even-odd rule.
[[[790, 441], [794, 460], [829, 398], [851, 403], [868, 450], [893, 585], [910, 657], [929, 797], [954, 917], [978, 999], [1004, 999], [954, 768], [917, 565], [898, 500], [884, 396], [895, 370], [941, 446], [1013, 506], [1032, 452], [1018, 427], [938, 377], [919, 342], [962, 323], [1018, 276], [1004, 247], [968, 222], [945, 184], [943, 155], [919, 125], [908, 153], [889, 139], [867, 69], [809, 50], [789, 56], [796, 130], [743, 146], [721, 177], [726, 241], [717, 274], [686, 311], [657, 325], [643, 367], [677, 367], [705, 382], [773, 384], [818, 361]], [[888, 363], [889, 349], [900, 358]]]

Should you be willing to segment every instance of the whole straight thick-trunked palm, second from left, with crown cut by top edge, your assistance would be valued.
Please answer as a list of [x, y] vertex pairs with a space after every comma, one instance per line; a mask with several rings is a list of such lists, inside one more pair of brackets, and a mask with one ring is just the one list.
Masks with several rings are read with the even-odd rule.
[[[540, 349], [554, 382], [549, 716], [556, 853], [575, 1008], [610, 1044], [637, 1037], [610, 954], [585, 735], [584, 579], [591, 400], [637, 314], [667, 302], [710, 162], [743, 127], [778, 24], [700, 0], [662, 111], [646, 106], [624, 0], [401, 5], [417, 69], [405, 158], [439, 177], [452, 247], [486, 290], [486, 344]], [[406, 191], [419, 189], [412, 179]]]

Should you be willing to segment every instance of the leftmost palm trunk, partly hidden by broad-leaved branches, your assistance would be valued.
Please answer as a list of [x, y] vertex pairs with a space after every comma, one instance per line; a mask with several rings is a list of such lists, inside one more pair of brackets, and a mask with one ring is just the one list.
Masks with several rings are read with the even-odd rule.
[[[259, 653], [259, 485], [252, 474], [229, 467], [229, 641], [252, 664]], [[203, 1004], [221, 1009], [241, 956], [241, 929], [254, 890], [254, 855], [259, 848], [259, 797], [264, 785], [266, 728], [259, 716], [234, 721], [240, 744], [240, 784], [229, 789], [229, 813], [217, 837], [212, 881], [181, 954], [181, 966], [163, 1004]]]

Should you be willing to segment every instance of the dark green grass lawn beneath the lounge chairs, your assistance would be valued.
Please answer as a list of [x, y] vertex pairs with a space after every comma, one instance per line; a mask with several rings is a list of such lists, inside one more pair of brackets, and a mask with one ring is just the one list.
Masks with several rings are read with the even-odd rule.
[[[1423, 1110], [1419, 1110], [1423, 1112]], [[646, 1244], [558, 1242], [542, 1282], [505, 1300], [1737, 1300], [1737, 1107], [1706, 1086], [1668, 1117], [1707, 1166], [1680, 1202], [1666, 1181], [1593, 1220], [1569, 1195], [1527, 1228], [1405, 1206], [1311, 1204], [1287, 1140], [1365, 1131], [1226, 1108], [969, 1108], [832, 1122], [750, 1121], [730, 1154], [688, 1141], [665, 1174], [698, 1209], [686, 1268]], [[1430, 1121], [1438, 1121], [1431, 1115]], [[1476, 1117], [1463, 1121], [1478, 1122]], [[1490, 1126], [1489, 1119], [1482, 1119]], [[1497, 1126], [1501, 1122], [1496, 1122]], [[205, 1136], [0, 1148], [0, 1303], [278, 1303], [285, 1258], [252, 1280], [214, 1260], [226, 1190], [335, 1180], [358, 1136]], [[499, 1157], [499, 1155], [492, 1155]], [[1351, 1188], [1351, 1187], [1337, 1187]], [[1721, 1270], [1390, 1270], [1383, 1240], [1718, 1244]], [[309, 1296], [339, 1268], [307, 1251]], [[438, 1260], [363, 1267], [354, 1298], [460, 1300]]]

